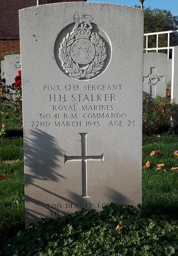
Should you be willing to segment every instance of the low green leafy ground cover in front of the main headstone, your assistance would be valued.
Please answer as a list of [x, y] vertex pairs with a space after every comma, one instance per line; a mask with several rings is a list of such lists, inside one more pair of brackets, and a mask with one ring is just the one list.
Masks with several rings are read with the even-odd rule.
[[[116, 226], [122, 230], [116, 230]], [[42, 219], [9, 241], [3, 255], [176, 255], [178, 223], [115, 204]], [[30, 243], [29, 243], [30, 241]]]

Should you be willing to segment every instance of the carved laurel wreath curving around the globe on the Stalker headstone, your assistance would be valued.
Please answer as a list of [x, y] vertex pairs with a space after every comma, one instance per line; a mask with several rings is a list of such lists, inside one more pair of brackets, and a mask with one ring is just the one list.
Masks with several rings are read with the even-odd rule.
[[76, 41], [74, 37], [74, 33], [68, 33], [66, 38], [63, 38], [62, 43], [60, 43], [59, 58], [60, 61], [62, 61], [63, 69], [74, 79], [83, 79], [84, 77], [91, 79], [96, 76], [104, 66], [104, 61], [107, 56], [105, 42], [101, 40], [97, 33], [92, 33], [91, 42], [95, 46], [95, 58], [86, 67], [80, 67], [70, 56], [70, 47], [73, 42]]

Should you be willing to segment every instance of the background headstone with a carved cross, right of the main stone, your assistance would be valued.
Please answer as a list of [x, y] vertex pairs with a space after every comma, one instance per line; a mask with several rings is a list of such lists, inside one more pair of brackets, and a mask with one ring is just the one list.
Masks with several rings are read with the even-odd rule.
[[150, 98], [166, 96], [167, 56], [159, 52], [144, 54], [143, 93]]

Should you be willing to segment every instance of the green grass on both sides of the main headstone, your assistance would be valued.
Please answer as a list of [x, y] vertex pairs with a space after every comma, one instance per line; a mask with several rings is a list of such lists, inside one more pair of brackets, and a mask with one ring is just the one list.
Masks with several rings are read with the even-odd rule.
[[[2, 247], [8, 238], [24, 229], [23, 138], [16, 137], [21, 132], [20, 125], [15, 124], [12, 119], [3, 119], [3, 123], [8, 131], [6, 130], [5, 137], [0, 137], [0, 175], [8, 177], [0, 180]], [[178, 167], [178, 157], [173, 155], [177, 149], [177, 135], [143, 137], [143, 165], [147, 161], [151, 165], [149, 169], [143, 170], [143, 209], [149, 209], [150, 214], [177, 217], [178, 174], [170, 171], [170, 168]], [[161, 153], [149, 157], [153, 150], [161, 150]], [[157, 163], [165, 163], [166, 172], [154, 170]]]

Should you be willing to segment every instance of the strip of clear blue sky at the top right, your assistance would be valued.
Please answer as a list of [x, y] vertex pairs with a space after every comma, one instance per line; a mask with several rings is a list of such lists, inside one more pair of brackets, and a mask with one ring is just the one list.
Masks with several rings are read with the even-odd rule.
[[[117, 3], [119, 5], [140, 5], [139, 0], [87, 0], [87, 2]], [[145, 0], [144, 7], [151, 9], [170, 10], [172, 15], [178, 16], [178, 0]]]

